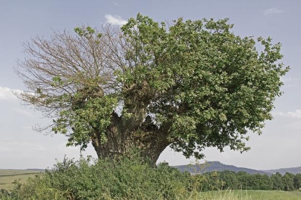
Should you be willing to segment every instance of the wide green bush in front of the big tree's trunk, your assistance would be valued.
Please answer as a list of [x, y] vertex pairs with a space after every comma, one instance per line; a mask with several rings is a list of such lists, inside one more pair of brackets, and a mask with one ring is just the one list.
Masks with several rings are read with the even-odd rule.
[[[64, 159], [52, 170], [15, 182], [11, 199], [188, 199], [195, 187], [189, 173], [161, 163], [156, 168], [135, 157], [115, 160]], [[195, 193], [196, 194], [196, 193]]]

